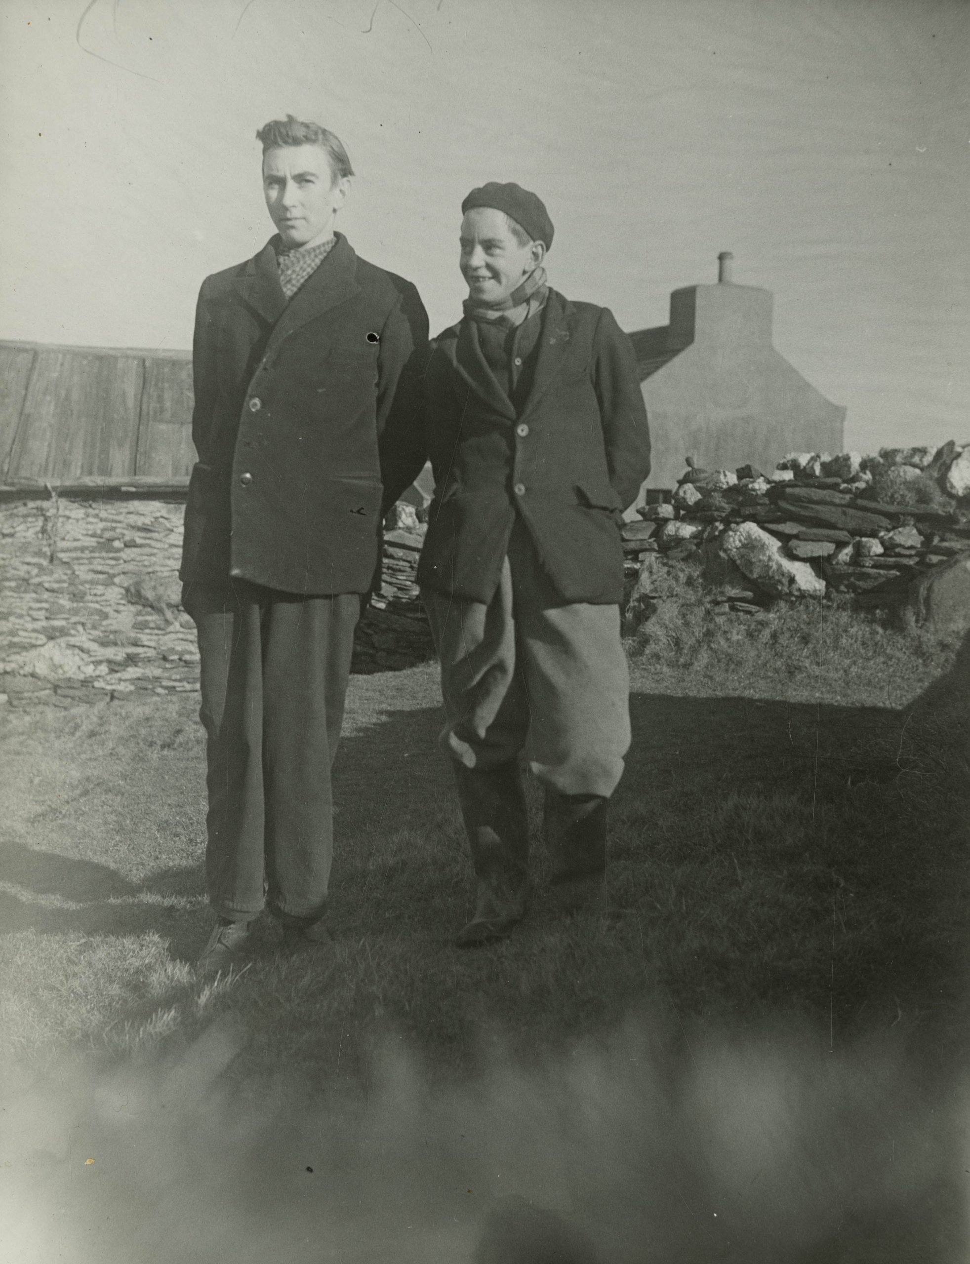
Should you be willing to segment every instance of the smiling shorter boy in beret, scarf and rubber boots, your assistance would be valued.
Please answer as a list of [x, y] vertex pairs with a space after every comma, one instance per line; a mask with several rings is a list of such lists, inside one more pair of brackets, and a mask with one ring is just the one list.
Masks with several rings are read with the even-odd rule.
[[634, 351], [611, 312], [546, 283], [545, 206], [488, 183], [462, 204], [463, 319], [425, 387], [435, 495], [419, 568], [477, 877], [472, 947], [525, 914], [525, 752], [545, 787], [563, 908], [597, 906], [607, 801], [630, 744], [622, 511], [650, 471]]

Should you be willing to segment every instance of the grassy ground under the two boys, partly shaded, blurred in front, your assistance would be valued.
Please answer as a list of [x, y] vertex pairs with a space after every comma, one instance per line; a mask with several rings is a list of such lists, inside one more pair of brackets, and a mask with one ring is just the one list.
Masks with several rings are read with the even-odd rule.
[[630, 1264], [964, 1259], [966, 653], [699, 607], [631, 653], [608, 918], [537, 847], [453, 951], [426, 665], [352, 683], [333, 951], [206, 986], [196, 702], [9, 714], [4, 1259], [463, 1260], [503, 1194]]

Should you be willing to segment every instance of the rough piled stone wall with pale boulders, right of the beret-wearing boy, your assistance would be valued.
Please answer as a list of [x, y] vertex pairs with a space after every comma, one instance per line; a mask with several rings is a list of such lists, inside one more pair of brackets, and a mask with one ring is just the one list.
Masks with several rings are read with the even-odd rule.
[[970, 561], [970, 445], [793, 453], [770, 474], [688, 466], [669, 503], [623, 527], [629, 579], [659, 551], [698, 559], [715, 581], [749, 581], [739, 608], [826, 593], [892, 605], [935, 568]]

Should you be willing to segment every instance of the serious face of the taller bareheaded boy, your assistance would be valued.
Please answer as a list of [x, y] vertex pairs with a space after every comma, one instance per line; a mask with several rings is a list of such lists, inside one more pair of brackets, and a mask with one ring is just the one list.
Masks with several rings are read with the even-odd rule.
[[263, 196], [283, 245], [316, 245], [334, 231], [348, 179], [334, 179], [320, 145], [283, 145], [263, 154]]

